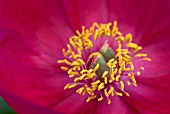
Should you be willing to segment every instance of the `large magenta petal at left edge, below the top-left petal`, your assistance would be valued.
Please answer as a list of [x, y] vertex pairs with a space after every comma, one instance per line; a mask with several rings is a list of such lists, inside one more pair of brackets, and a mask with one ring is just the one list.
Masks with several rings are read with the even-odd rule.
[[42, 106], [58, 103], [72, 94], [63, 89], [69, 80], [67, 75], [35, 44], [11, 30], [0, 31], [0, 44], [0, 89]]

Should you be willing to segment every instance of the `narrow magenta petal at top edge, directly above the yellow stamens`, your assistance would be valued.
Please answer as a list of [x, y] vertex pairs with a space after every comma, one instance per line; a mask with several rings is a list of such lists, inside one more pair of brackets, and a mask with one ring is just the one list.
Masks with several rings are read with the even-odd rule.
[[74, 30], [81, 26], [90, 27], [93, 22], [107, 22], [107, 4], [105, 0], [64, 0], [64, 8]]

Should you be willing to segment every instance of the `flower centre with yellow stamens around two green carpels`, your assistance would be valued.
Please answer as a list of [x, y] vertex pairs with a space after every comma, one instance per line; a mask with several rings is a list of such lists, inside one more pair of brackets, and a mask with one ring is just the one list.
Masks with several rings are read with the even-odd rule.
[[[73, 81], [64, 89], [76, 88], [76, 93], [88, 95], [86, 102], [102, 101], [114, 95], [129, 96], [125, 86], [137, 86], [135, 77], [144, 67], [136, 68], [135, 61], [151, 61], [145, 53], [139, 53], [141, 46], [132, 42], [132, 35], [119, 32], [117, 22], [113, 24], [94, 23], [90, 29], [82, 26], [82, 32], [70, 37], [67, 50], [63, 49], [65, 59], [61, 69]], [[111, 29], [112, 28], [112, 29]]]

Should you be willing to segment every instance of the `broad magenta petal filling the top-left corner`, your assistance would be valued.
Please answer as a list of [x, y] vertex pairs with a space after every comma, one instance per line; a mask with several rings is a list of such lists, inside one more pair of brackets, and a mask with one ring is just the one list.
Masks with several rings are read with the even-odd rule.
[[[48, 51], [61, 49], [73, 35], [61, 1], [17, 0], [1, 1], [0, 25], [17, 31]], [[58, 43], [60, 42], [60, 43]], [[57, 45], [56, 45], [57, 44]]]

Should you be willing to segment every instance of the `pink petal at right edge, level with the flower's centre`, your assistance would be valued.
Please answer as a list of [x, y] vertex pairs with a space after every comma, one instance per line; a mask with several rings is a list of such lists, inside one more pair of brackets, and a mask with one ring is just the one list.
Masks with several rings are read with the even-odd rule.
[[141, 76], [139, 78], [148, 78], [148, 77], [160, 77], [165, 74], [169, 74], [169, 56], [170, 56], [170, 45], [168, 41], [158, 42], [143, 48], [144, 53], [148, 54], [152, 60], [148, 61], [139, 61], [134, 65], [136, 68], [143, 66], [144, 71], [141, 71]]

